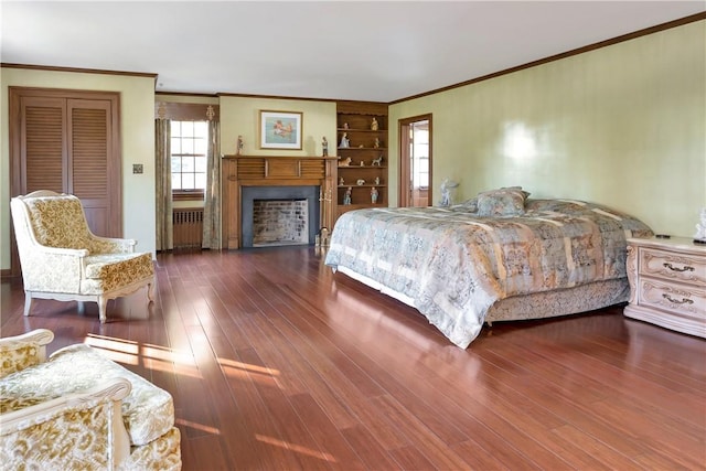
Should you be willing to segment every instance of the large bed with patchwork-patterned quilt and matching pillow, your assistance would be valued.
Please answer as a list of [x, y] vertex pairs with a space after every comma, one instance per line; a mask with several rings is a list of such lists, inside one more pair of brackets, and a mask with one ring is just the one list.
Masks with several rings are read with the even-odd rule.
[[513, 186], [450, 207], [351, 211], [325, 264], [416, 308], [462, 349], [484, 322], [627, 301], [625, 238], [652, 231], [602, 205], [528, 196]]

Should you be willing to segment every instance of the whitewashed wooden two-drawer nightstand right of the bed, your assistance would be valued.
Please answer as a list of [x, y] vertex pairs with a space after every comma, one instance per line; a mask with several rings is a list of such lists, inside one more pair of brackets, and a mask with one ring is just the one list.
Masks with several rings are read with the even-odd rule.
[[706, 245], [688, 238], [629, 238], [628, 318], [706, 338]]

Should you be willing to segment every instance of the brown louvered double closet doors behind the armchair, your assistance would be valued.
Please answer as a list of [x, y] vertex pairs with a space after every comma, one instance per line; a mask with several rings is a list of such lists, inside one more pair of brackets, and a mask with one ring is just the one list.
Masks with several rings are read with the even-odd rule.
[[[68, 96], [60, 96], [60, 95]], [[82, 98], [86, 95], [87, 98]], [[12, 90], [19, 104], [12, 137], [12, 194], [53, 190], [75, 194], [94, 234], [122, 236], [117, 94]], [[12, 128], [12, 127], [11, 127]]]

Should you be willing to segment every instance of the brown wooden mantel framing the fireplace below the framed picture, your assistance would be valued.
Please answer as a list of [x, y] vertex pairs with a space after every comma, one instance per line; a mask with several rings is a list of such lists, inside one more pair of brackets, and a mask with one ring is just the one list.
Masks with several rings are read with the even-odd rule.
[[331, 229], [335, 215], [336, 157], [223, 156], [223, 240], [227, 248], [240, 248], [243, 186], [321, 188], [321, 227]]

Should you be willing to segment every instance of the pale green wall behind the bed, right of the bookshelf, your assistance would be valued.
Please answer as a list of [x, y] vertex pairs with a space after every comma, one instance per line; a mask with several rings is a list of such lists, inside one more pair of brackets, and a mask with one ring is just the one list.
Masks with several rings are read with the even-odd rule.
[[706, 207], [706, 21], [392, 105], [391, 176], [398, 120], [427, 113], [435, 204], [445, 178], [457, 201], [522, 185], [688, 237]]

